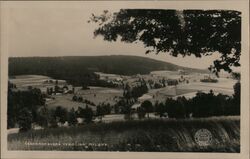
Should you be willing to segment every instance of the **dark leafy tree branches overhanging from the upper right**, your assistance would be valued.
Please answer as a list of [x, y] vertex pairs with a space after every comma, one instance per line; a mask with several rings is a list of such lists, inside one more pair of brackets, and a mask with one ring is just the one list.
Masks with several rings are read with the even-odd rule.
[[[234, 10], [121, 9], [92, 14], [89, 22], [98, 23], [94, 35], [106, 41], [141, 41], [146, 53], [167, 52], [172, 56], [196, 57], [220, 54], [210, 70], [231, 72], [240, 66], [241, 12]], [[121, 38], [119, 38], [121, 37]], [[233, 56], [231, 56], [233, 55]]]

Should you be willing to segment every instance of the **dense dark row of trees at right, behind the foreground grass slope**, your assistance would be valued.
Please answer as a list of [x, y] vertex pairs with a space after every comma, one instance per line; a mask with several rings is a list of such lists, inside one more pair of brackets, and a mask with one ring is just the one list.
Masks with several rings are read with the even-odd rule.
[[160, 116], [167, 113], [169, 118], [240, 115], [240, 83], [234, 85], [233, 96], [215, 95], [211, 90], [209, 93], [197, 92], [191, 99], [167, 98], [165, 104], [156, 102], [155, 112]]

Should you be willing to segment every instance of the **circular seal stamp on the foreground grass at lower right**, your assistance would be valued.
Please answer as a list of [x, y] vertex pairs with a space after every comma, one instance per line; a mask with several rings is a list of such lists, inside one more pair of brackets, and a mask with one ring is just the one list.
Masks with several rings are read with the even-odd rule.
[[207, 129], [199, 129], [195, 133], [194, 139], [199, 146], [209, 146], [212, 143], [212, 133]]

